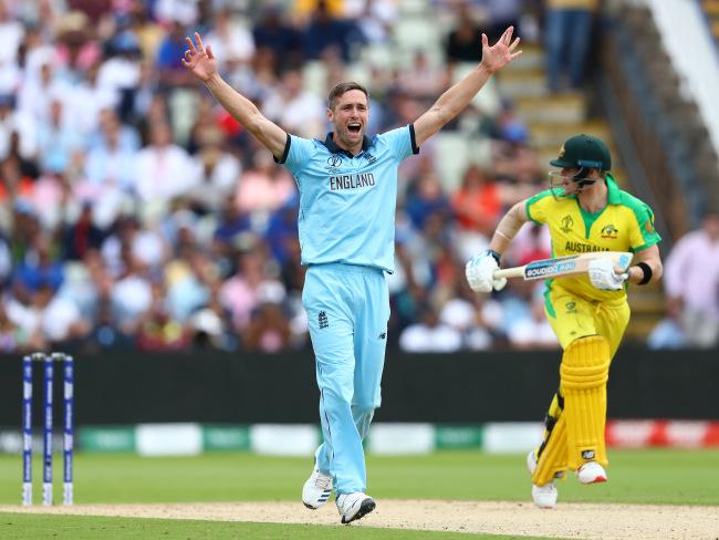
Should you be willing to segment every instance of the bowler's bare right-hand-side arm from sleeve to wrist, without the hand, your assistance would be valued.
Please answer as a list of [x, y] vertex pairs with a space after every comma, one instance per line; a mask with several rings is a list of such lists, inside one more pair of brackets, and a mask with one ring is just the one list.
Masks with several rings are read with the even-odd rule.
[[457, 116], [487, 84], [491, 73], [480, 63], [469, 75], [439, 96], [435, 104], [415, 121], [417, 146], [431, 137]]

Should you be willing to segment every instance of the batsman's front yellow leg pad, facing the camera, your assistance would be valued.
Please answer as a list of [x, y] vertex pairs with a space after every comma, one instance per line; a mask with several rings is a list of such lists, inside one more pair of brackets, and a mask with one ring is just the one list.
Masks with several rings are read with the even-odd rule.
[[573, 341], [560, 366], [560, 391], [564, 396], [567, 466], [576, 470], [586, 461], [607, 465], [604, 444], [606, 382], [609, 376], [609, 344], [601, 335]]

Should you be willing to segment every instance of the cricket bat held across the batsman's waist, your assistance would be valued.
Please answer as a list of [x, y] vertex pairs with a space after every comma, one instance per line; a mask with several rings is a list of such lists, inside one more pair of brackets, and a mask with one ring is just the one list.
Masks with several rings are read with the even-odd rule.
[[595, 251], [591, 253], [571, 255], [558, 257], [556, 259], [542, 259], [532, 261], [523, 267], [502, 268], [494, 271], [497, 278], [523, 278], [527, 280], [561, 278], [584, 273], [590, 268], [590, 262], [595, 259], [609, 258], [614, 261], [617, 273], [625, 272], [629, 268], [634, 253], [624, 251]]

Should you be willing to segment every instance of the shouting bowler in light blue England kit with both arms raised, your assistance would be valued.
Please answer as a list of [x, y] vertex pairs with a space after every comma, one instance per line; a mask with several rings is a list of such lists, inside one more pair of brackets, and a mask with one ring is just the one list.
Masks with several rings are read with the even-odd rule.
[[362, 440], [381, 402], [387, 343], [389, 294], [385, 274], [394, 271], [397, 168], [462, 111], [490, 76], [521, 54], [508, 28], [482, 61], [447, 90], [413, 124], [368, 137], [367, 90], [358, 83], [334, 86], [327, 98], [333, 131], [322, 139], [288, 134], [233, 90], [217, 72], [211, 46], [187, 38], [184, 65], [217, 101], [294, 176], [300, 190], [299, 236], [309, 266], [302, 291], [320, 388], [323, 443], [302, 489], [311, 509], [334, 489], [341, 521], [375, 509], [366, 494]]

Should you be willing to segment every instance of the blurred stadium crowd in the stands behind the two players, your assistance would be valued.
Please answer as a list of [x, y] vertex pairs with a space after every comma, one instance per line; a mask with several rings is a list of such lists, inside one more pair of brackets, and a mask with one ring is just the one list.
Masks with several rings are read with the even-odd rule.
[[[415, 120], [521, 7], [486, 2], [481, 27], [435, 3], [456, 20], [442, 62], [397, 70], [359, 53], [389, 43], [392, 0], [0, 0], [0, 352], [308, 346], [294, 180], [191, 81], [185, 35], [302, 136], [323, 138], [326, 91], [366, 74], [372, 134]], [[463, 279], [502, 211], [544, 187], [525, 126], [502, 102], [446, 129], [484, 150], [458, 178], [437, 144], [400, 169], [390, 345], [558, 346], [536, 285], [481, 298]], [[506, 263], [548, 246], [527, 228]]]

